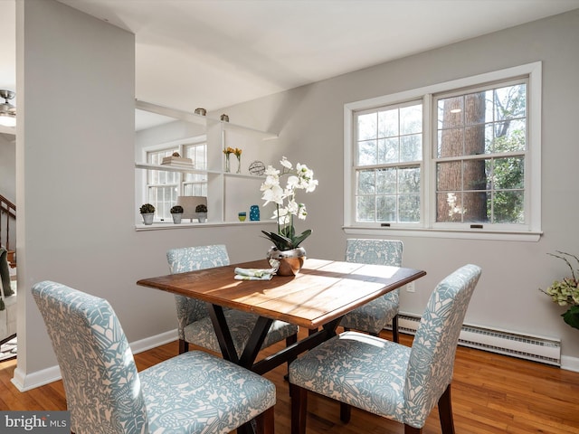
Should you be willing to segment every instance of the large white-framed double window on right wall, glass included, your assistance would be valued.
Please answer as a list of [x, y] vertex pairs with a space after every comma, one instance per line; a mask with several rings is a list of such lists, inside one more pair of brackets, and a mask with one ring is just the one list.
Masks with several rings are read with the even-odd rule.
[[346, 231], [539, 234], [540, 94], [533, 63], [346, 104]]

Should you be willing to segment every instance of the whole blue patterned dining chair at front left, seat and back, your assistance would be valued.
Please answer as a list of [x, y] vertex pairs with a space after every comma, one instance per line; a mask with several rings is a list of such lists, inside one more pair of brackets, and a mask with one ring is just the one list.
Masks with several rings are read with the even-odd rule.
[[[140, 373], [109, 302], [62, 284], [33, 285], [76, 434], [273, 432], [275, 385], [203, 351]], [[260, 431], [261, 429], [261, 431]]]

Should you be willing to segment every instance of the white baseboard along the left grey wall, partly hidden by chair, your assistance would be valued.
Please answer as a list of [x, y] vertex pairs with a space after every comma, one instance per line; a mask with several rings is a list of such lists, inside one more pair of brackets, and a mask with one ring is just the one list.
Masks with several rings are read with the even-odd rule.
[[[171, 330], [160, 335], [155, 335], [141, 339], [130, 344], [133, 354], [142, 353], [157, 346], [174, 342], [178, 339], [177, 330]], [[62, 379], [61, 370], [56, 366], [36, 371], [34, 373], [24, 373], [18, 366], [14, 369], [14, 377], [11, 382], [20, 392], [27, 392], [31, 389], [43, 386], [50, 382]]]

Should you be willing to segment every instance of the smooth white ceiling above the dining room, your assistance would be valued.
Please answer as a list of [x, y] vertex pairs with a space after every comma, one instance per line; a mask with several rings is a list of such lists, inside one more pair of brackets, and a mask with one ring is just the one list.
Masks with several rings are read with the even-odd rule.
[[[579, 0], [59, 0], [136, 35], [136, 96], [221, 109], [579, 8]], [[15, 90], [14, 0], [0, 89]]]

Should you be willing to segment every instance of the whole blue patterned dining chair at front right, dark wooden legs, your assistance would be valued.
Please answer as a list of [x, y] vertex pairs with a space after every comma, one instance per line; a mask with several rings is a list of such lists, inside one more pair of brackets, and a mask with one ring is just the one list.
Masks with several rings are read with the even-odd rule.
[[465, 265], [432, 291], [412, 348], [372, 335], [345, 332], [289, 365], [291, 433], [306, 429], [308, 391], [404, 424], [419, 434], [438, 402], [443, 434], [454, 433], [451, 381], [454, 356], [470, 296], [481, 269]]

